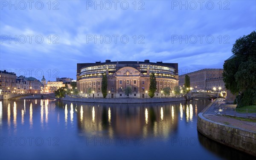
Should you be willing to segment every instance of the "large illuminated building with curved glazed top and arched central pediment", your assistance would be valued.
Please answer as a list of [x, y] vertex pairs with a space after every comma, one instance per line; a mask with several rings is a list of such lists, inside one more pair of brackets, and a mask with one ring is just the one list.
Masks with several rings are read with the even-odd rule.
[[[102, 97], [102, 74], [108, 77], [108, 96], [146, 98], [150, 84], [150, 73], [154, 72], [157, 80], [155, 97], [162, 97], [161, 90], [169, 87], [171, 91], [178, 85], [177, 63], [152, 63], [149, 60], [116, 61], [104, 63], [78, 63], [77, 88], [85, 97]], [[125, 95], [124, 89], [131, 87], [132, 93]], [[90, 90], [93, 92], [90, 93]], [[172, 94], [171, 94], [172, 95]]]

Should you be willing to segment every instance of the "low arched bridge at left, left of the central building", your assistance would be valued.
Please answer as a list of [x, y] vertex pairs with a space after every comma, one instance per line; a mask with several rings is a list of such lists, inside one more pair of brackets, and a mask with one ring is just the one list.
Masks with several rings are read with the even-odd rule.
[[3, 99], [4, 100], [17, 100], [17, 99], [41, 99], [41, 98], [54, 98], [55, 94], [7, 94], [7, 95], [3, 95]]

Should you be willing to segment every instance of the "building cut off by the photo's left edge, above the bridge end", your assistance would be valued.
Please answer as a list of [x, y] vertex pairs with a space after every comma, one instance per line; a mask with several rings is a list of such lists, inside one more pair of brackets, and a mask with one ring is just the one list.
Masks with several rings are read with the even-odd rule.
[[10, 94], [16, 90], [16, 74], [6, 70], [0, 71], [0, 89], [3, 94]]

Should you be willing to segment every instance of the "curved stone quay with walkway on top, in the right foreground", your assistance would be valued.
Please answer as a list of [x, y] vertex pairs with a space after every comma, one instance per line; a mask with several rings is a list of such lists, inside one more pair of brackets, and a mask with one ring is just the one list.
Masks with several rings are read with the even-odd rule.
[[199, 113], [198, 131], [212, 140], [256, 156], [256, 123], [222, 116], [220, 112], [226, 108], [223, 100], [217, 99]]

